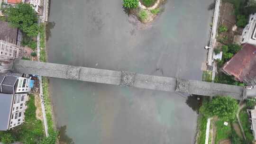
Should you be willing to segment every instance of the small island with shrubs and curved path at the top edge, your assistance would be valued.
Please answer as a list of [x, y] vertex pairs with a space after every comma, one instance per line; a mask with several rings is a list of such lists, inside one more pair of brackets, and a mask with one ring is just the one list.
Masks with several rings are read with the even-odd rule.
[[159, 6], [165, 0], [123, 0], [123, 7], [129, 14], [137, 16], [142, 23], [149, 23], [154, 20], [161, 11]]

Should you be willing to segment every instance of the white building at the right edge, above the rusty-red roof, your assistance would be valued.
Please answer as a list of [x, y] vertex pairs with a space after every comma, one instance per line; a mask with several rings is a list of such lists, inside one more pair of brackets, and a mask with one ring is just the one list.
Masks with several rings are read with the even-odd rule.
[[246, 43], [256, 45], [256, 13], [250, 15], [249, 23], [243, 30], [241, 44]]

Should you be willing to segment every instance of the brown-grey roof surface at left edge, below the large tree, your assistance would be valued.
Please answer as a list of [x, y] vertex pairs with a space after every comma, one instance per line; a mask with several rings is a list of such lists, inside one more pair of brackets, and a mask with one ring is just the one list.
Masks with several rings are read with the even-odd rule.
[[18, 36], [18, 28], [13, 28], [8, 25], [8, 22], [0, 21], [0, 40], [10, 40], [16, 44]]

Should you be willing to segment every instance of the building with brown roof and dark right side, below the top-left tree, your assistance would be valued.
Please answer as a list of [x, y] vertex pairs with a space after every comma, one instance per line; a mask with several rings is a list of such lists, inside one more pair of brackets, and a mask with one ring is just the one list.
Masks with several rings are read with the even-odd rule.
[[18, 28], [10, 27], [8, 22], [0, 21], [0, 40], [20, 46], [22, 32]]

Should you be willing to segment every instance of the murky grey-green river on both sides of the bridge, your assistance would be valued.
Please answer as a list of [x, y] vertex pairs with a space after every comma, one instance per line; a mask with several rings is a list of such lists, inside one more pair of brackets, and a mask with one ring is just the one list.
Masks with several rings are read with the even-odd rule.
[[[51, 0], [48, 61], [201, 80], [213, 0], [167, 0], [143, 25], [122, 0]], [[197, 114], [172, 92], [50, 79], [61, 140], [72, 144], [192, 144]]]

